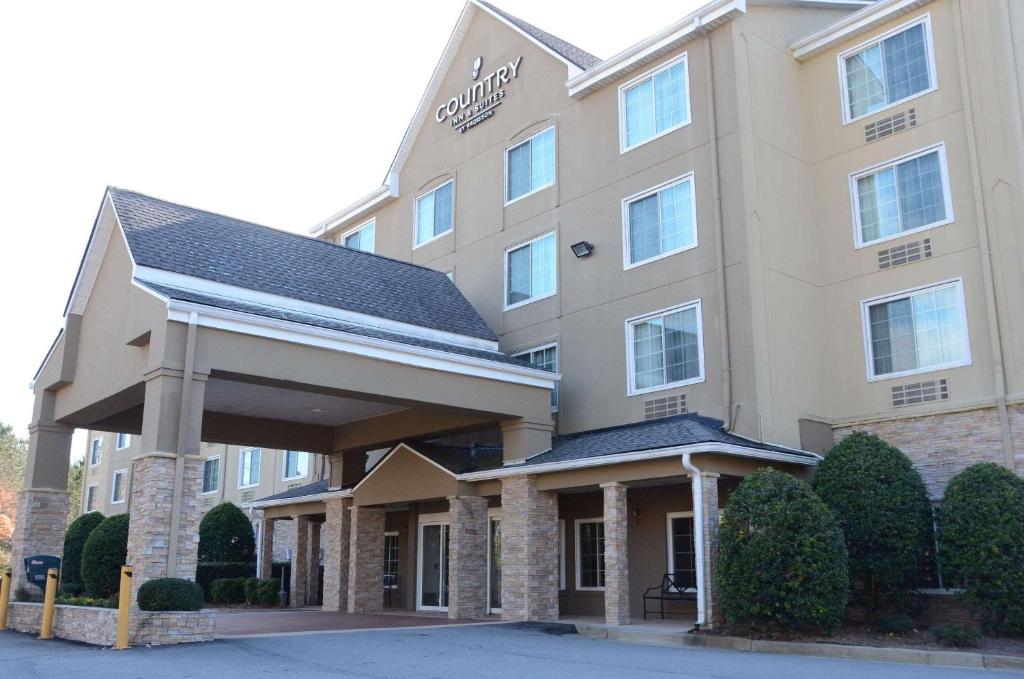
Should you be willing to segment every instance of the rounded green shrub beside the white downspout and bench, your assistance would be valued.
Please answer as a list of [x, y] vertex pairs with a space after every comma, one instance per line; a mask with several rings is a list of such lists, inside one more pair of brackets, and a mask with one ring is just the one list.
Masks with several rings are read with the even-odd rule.
[[744, 478], [725, 507], [716, 563], [731, 625], [835, 632], [849, 590], [836, 517], [811, 486], [774, 469]]

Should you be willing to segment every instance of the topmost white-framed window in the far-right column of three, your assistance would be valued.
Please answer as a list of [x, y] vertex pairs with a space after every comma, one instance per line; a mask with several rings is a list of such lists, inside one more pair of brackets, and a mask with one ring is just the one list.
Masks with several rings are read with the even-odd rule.
[[839, 73], [844, 124], [934, 91], [931, 15], [841, 53]]

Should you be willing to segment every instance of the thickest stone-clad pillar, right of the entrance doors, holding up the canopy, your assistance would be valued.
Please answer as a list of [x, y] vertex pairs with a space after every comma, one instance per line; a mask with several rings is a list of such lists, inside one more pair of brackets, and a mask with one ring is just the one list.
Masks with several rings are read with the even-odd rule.
[[558, 620], [558, 494], [502, 479], [502, 620]]

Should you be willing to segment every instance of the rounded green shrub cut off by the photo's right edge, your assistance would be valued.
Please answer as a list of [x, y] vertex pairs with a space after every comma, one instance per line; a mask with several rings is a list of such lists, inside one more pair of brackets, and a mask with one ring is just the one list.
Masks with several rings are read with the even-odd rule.
[[946, 487], [939, 554], [982, 627], [1024, 634], [1024, 479], [999, 465], [971, 465]]

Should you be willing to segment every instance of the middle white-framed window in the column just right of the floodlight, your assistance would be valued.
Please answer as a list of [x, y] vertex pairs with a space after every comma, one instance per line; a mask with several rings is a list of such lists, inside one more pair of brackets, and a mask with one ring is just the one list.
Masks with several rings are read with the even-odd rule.
[[623, 200], [623, 267], [697, 247], [693, 173]]

